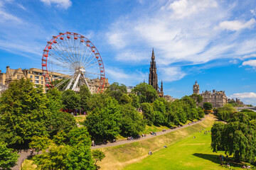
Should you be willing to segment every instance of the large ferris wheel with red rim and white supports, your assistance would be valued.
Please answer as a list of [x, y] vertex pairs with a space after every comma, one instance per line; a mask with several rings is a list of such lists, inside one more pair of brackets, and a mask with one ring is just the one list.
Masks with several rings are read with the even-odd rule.
[[42, 57], [46, 87], [79, 91], [86, 84], [91, 94], [102, 92], [105, 69], [95, 45], [78, 33], [60, 33], [47, 42]]

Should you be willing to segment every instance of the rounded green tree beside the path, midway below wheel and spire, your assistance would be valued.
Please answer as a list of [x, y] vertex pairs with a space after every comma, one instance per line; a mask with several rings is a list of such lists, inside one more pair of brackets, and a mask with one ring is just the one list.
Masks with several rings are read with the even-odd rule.
[[139, 114], [133, 106], [125, 105], [121, 108], [121, 132], [123, 136], [137, 137], [139, 132], [145, 129], [145, 123], [142, 115]]

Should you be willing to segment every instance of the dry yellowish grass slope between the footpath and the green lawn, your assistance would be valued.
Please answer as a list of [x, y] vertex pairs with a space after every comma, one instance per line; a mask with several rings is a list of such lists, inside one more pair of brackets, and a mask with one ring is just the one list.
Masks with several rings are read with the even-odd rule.
[[99, 162], [99, 165], [101, 169], [122, 169], [128, 164], [139, 162], [147, 157], [149, 150], [151, 150], [151, 152], [156, 152], [157, 150], [162, 149], [164, 145], [172, 145], [201, 129], [210, 127], [213, 125], [214, 121], [215, 118], [210, 115], [206, 116], [206, 120], [201, 123], [197, 123], [174, 132], [169, 132], [165, 135], [152, 137], [148, 140], [141, 140], [126, 145], [101, 148], [100, 150], [105, 152], [106, 157], [102, 162]]

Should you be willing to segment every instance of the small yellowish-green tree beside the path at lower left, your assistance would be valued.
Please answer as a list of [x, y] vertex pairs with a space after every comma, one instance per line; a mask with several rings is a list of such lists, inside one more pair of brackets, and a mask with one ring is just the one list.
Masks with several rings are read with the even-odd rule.
[[51, 143], [51, 140], [46, 136], [33, 136], [31, 140], [32, 141], [29, 143], [29, 147], [35, 148], [36, 152], [47, 149]]

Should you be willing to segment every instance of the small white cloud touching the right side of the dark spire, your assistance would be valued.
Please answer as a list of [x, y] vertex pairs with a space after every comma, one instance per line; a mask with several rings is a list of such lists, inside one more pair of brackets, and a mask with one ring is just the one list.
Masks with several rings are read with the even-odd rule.
[[186, 76], [186, 73], [181, 71], [180, 67], [159, 68], [159, 72], [163, 75], [160, 76], [163, 81], [176, 81]]

